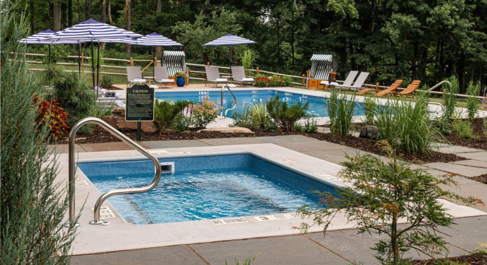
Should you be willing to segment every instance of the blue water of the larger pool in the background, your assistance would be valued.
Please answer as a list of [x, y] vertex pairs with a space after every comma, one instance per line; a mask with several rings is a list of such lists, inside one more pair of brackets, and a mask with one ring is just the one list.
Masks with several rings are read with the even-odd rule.
[[[252, 103], [265, 103], [270, 98], [279, 95], [281, 100], [287, 101], [289, 104], [296, 104], [298, 102], [309, 102], [308, 114], [310, 116], [326, 117], [328, 113], [324, 106], [324, 98], [311, 95], [302, 95], [289, 92], [281, 92], [277, 90], [237, 90], [233, 91], [233, 94], [237, 98], [237, 108], [234, 110], [236, 112], [243, 112], [244, 108], [248, 104]], [[156, 98], [177, 101], [177, 100], [190, 100], [195, 102], [201, 102], [207, 95], [209, 95], [211, 101], [217, 101], [217, 108], [220, 108], [221, 92], [220, 91], [185, 91], [185, 92], [157, 92], [155, 94]], [[223, 109], [230, 109], [233, 107], [234, 99], [228, 91], [224, 92], [224, 102]], [[229, 111], [228, 116], [232, 112]], [[363, 103], [358, 102], [355, 108], [355, 115], [363, 115], [365, 113]]]

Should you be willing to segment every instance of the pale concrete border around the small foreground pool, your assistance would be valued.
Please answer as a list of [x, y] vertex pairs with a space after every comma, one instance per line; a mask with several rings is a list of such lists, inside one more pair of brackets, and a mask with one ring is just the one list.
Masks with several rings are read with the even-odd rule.
[[[176, 154], [176, 155], [211, 155], [215, 153], [232, 153], [232, 152], [252, 152], [265, 158], [265, 160], [274, 160], [274, 163], [279, 163], [278, 160], [289, 159], [293, 163], [278, 165], [281, 167], [290, 167], [291, 170], [301, 170], [306, 174], [315, 172], [324, 172], [331, 175], [336, 175], [337, 171], [341, 168], [339, 165], [321, 160], [306, 154], [292, 151], [284, 147], [280, 147], [274, 144], [252, 144], [252, 145], [233, 145], [233, 146], [211, 146], [211, 147], [190, 147], [190, 148], [170, 148], [164, 150], [149, 150], [152, 153], [174, 153], [174, 152], [191, 152]], [[138, 157], [137, 151], [102, 151], [102, 152], [88, 152], [79, 153], [78, 162], [81, 161], [107, 161], [107, 159], [121, 160], [140, 160], [145, 157]], [[168, 154], [171, 155], [171, 154]], [[164, 158], [173, 157], [168, 155], [157, 155]], [[57, 181], [66, 183], [67, 181], [67, 161], [68, 155], [61, 154], [58, 157], [60, 163], [60, 171], [56, 177]], [[299, 171], [300, 172], [300, 171]], [[302, 174], [300, 172], [300, 174]], [[110, 222], [108, 226], [92, 226], [88, 225], [88, 222], [93, 219], [94, 202], [101, 195], [96, 187], [89, 181], [89, 179], [82, 173], [81, 170], [76, 172], [76, 181], [85, 181], [88, 186], [76, 187], [75, 197], [75, 211], [79, 213], [83, 204], [86, 205], [81, 210], [81, 216], [78, 227], [78, 235], [73, 243], [72, 250], [74, 255], [103, 253], [121, 250], [131, 250], [140, 248], [150, 248], [157, 246], [174, 246], [182, 244], [196, 244], [217, 242], [226, 240], [238, 240], [248, 238], [260, 238], [269, 236], [281, 236], [281, 235], [293, 235], [299, 234], [300, 231], [294, 227], [299, 227], [302, 222], [311, 223], [309, 218], [293, 218], [290, 215], [284, 216], [285, 218], [274, 220], [260, 221], [259, 216], [245, 216], [243, 218], [248, 222], [241, 223], [229, 223], [216, 225], [211, 220], [198, 220], [187, 221], [177, 223], [163, 223], [163, 224], [150, 224], [150, 225], [134, 225], [126, 223], [120, 215], [116, 212], [116, 209], [105, 201], [103, 206], [108, 206], [113, 209], [115, 217], [105, 219]], [[344, 182], [338, 182], [340, 185]], [[61, 185], [62, 186], [62, 185]], [[450, 202], [444, 201], [446, 208], [449, 208], [450, 214], [454, 217], [468, 217], [485, 215], [485, 212], [469, 208], [466, 206], [458, 206]], [[289, 214], [289, 213], [287, 213]], [[257, 217], [257, 218], [256, 218]], [[219, 218], [216, 220], [222, 220], [225, 218]], [[68, 220], [68, 216], [65, 216], [65, 220]], [[215, 219], [213, 219], [215, 220]], [[406, 220], [402, 220], [405, 223]], [[348, 223], [345, 216], [337, 216], [331, 226], [330, 230], [349, 229], [354, 228], [354, 223]], [[321, 227], [313, 226], [310, 228], [310, 232], [321, 231]]]

